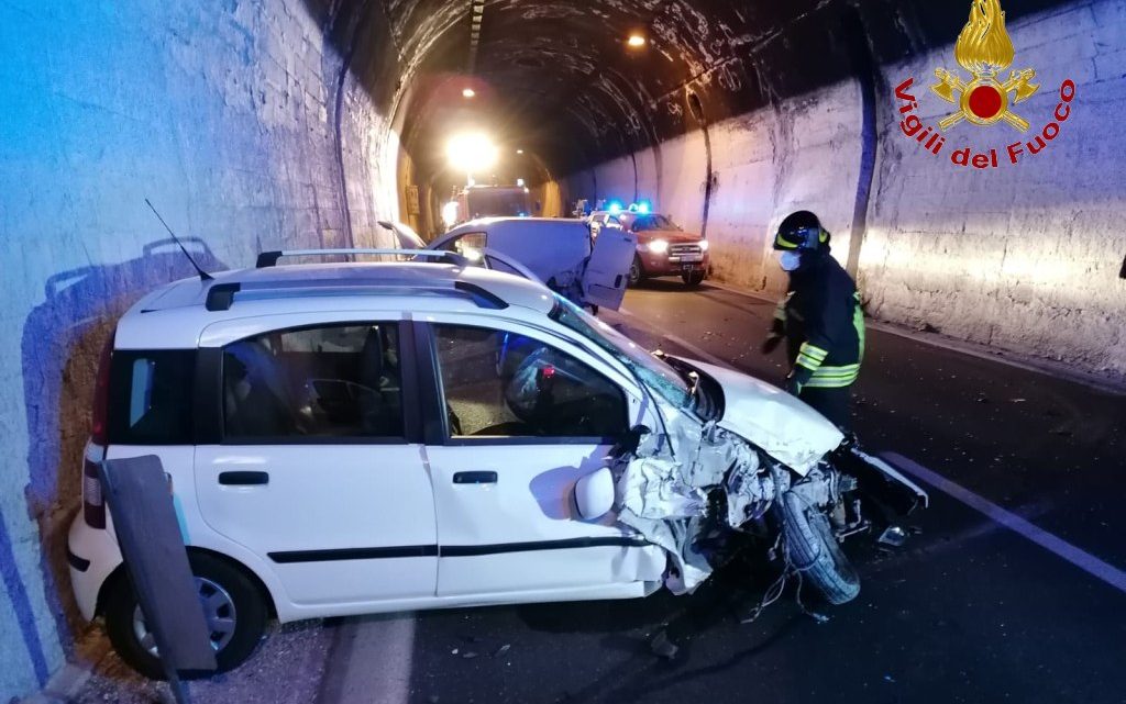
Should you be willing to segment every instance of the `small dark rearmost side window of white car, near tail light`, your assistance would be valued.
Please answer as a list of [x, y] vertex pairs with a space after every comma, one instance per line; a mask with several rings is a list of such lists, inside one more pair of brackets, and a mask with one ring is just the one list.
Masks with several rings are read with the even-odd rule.
[[193, 443], [194, 350], [118, 350], [110, 371], [109, 442]]

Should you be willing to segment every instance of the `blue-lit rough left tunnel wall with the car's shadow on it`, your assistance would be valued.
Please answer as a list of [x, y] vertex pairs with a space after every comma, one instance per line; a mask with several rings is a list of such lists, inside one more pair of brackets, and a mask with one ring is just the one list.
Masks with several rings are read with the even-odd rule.
[[[63, 550], [98, 352], [127, 305], [190, 273], [144, 199], [209, 269], [346, 243], [348, 218], [330, 119], [341, 62], [302, 0], [0, 0], [0, 46], [8, 701], [42, 685], [81, 628]], [[346, 88], [351, 219], [370, 243], [397, 210], [373, 186], [386, 174], [359, 165], [386, 148], [385, 123]]]

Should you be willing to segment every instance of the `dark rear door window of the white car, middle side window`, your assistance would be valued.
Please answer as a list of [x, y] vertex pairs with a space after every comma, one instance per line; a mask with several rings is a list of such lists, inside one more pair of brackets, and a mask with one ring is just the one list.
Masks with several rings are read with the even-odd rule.
[[223, 349], [224, 439], [403, 436], [395, 323], [284, 330]]

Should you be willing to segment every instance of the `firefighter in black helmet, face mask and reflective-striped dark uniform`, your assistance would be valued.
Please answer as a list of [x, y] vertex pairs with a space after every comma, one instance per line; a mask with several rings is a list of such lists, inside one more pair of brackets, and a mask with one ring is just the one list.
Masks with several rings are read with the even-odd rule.
[[781, 252], [789, 289], [762, 351], [769, 354], [785, 339], [790, 364], [786, 390], [850, 434], [852, 383], [864, 359], [864, 312], [856, 283], [829, 253], [830, 238], [808, 210], [778, 226], [774, 249]]

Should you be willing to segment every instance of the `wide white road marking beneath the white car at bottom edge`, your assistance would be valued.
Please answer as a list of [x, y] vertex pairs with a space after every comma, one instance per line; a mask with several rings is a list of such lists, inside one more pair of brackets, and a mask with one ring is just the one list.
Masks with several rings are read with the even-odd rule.
[[406, 704], [411, 698], [414, 614], [348, 619], [340, 625], [334, 662], [327, 677], [336, 682], [321, 701], [350, 704]]

